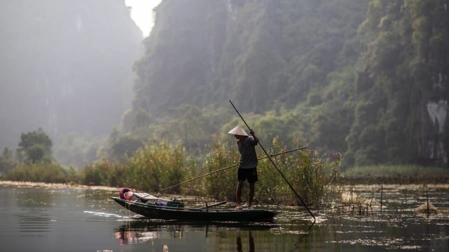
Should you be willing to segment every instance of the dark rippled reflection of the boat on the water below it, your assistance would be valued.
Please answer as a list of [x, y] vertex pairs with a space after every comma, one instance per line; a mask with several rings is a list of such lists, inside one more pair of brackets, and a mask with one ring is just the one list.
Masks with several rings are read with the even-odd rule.
[[[308, 226], [302, 236], [307, 236], [311, 229]], [[304, 229], [306, 227], [304, 226]], [[179, 246], [190, 243], [201, 243], [203, 247], [197, 251], [213, 251], [208, 244], [226, 239], [225, 244], [235, 244], [238, 251], [255, 251], [257, 242], [263, 244], [266, 233], [278, 234], [282, 232], [282, 225], [274, 221], [266, 222], [215, 222], [215, 221], [187, 221], [187, 220], [148, 220], [143, 217], [133, 217], [132, 220], [122, 222], [113, 232], [120, 244], [150, 245], [154, 248], [164, 246]], [[288, 232], [288, 231], [287, 231]], [[298, 236], [300, 239], [301, 236]], [[206, 242], [206, 241], [209, 242]], [[162, 241], [162, 242], [161, 242]], [[181, 242], [182, 241], [182, 242]], [[256, 246], [254, 246], [256, 244]], [[195, 247], [195, 245], [192, 245]], [[179, 248], [179, 247], [178, 247]], [[208, 249], [209, 248], [209, 249]], [[192, 250], [191, 247], [184, 251]]]

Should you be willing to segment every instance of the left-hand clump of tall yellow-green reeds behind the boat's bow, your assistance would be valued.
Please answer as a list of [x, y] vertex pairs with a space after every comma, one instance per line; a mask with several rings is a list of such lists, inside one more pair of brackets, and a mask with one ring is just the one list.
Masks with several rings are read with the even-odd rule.
[[[170, 145], [166, 140], [152, 140], [144, 144], [132, 157], [122, 162], [104, 159], [86, 165], [81, 181], [90, 185], [128, 186], [156, 192], [166, 185], [182, 182], [184, 178], [183, 148]], [[179, 193], [180, 188], [167, 191]]]

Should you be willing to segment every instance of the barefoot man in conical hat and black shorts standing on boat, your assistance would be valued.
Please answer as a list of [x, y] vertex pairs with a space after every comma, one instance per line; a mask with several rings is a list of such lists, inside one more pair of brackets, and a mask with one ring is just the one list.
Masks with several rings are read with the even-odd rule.
[[239, 125], [231, 129], [229, 134], [233, 134], [237, 139], [238, 152], [240, 152], [240, 160], [238, 161], [237, 172], [237, 190], [235, 191], [236, 206], [235, 209], [242, 209], [241, 207], [241, 187], [243, 182], [248, 180], [249, 195], [248, 195], [248, 209], [252, 209], [252, 199], [254, 198], [254, 183], [257, 181], [257, 153], [255, 145], [259, 142], [257, 136], [254, 135], [254, 130], [249, 131], [252, 136], [249, 136], [245, 130]]

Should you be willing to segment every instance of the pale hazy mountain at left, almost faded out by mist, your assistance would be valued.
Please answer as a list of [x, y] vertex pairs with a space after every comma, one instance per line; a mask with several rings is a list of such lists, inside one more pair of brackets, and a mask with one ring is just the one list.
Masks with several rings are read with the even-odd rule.
[[132, 99], [142, 33], [123, 0], [0, 3], [0, 147], [42, 127], [98, 137]]

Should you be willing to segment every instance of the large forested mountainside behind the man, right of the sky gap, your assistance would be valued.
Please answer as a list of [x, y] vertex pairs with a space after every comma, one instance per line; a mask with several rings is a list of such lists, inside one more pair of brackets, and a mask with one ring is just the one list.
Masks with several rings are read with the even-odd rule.
[[[124, 130], [198, 146], [208, 129], [232, 126], [232, 115], [214, 126], [200, 108], [233, 100], [253, 113], [259, 133], [342, 150], [348, 164], [447, 165], [448, 4], [164, 0], [135, 64]], [[197, 107], [169, 109], [182, 104]], [[189, 126], [202, 132], [190, 139], [177, 121], [188, 121], [188, 111], [196, 115]]]

